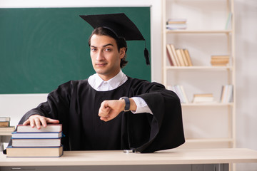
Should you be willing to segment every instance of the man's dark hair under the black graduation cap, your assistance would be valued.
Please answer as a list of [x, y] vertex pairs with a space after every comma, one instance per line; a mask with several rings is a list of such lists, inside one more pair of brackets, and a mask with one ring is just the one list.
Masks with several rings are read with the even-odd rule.
[[[94, 34], [100, 35], [100, 36], [110, 36], [111, 38], [114, 38], [118, 46], [118, 51], [120, 51], [121, 48], [126, 48], [126, 51], [127, 51], [125, 38], [116, 36], [116, 34], [113, 31], [111, 31], [109, 28], [104, 28], [104, 27], [98, 27], [94, 29], [94, 31], [91, 33], [91, 36], [89, 36], [89, 47], [91, 46], [91, 37]], [[128, 63], [128, 61], [126, 61], [126, 51], [125, 51], [124, 58], [121, 58], [121, 63], [120, 63], [121, 68], [124, 68], [124, 66], [126, 66], [126, 64]]]

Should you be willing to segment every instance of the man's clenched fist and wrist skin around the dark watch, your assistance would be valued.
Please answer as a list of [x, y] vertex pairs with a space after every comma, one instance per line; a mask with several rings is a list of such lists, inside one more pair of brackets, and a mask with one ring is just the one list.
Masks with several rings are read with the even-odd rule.
[[[136, 110], [136, 103], [132, 98], [129, 99], [130, 110]], [[99, 108], [99, 116], [101, 120], [109, 121], [116, 118], [125, 108], [125, 100], [104, 100]]]

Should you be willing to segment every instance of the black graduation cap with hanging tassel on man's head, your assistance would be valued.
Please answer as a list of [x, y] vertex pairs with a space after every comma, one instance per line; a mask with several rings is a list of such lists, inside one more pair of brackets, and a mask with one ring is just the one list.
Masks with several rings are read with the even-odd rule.
[[[93, 28], [108, 28], [116, 34], [117, 37], [123, 37], [126, 41], [145, 41], [143, 35], [135, 24], [124, 13], [120, 14], [99, 14], [80, 16], [88, 22]], [[149, 65], [149, 53], [147, 48], [144, 49], [146, 64]]]

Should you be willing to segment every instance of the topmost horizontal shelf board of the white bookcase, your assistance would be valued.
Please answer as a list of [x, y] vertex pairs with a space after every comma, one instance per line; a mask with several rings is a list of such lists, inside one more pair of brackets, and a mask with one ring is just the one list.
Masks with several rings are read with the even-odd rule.
[[168, 30], [166, 33], [232, 33], [231, 30]]

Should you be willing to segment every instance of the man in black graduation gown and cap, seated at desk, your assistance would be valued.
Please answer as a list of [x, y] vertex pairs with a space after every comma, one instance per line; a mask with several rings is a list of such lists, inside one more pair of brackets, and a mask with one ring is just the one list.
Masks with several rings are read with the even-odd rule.
[[176, 93], [159, 83], [126, 76], [121, 70], [127, 63], [126, 41], [144, 41], [138, 28], [125, 14], [81, 18], [94, 28], [89, 48], [96, 73], [62, 84], [20, 123], [38, 129], [61, 123], [64, 150], [154, 152], [183, 144], [181, 103]]

